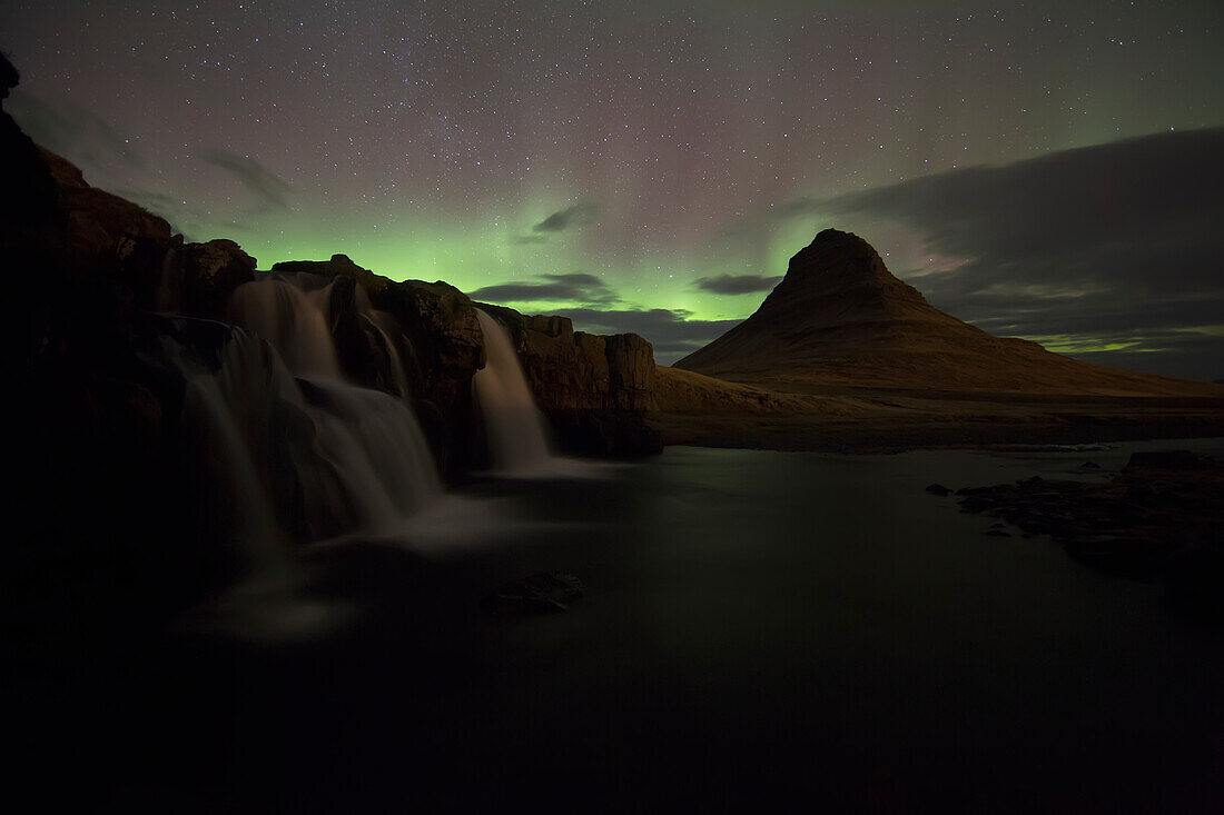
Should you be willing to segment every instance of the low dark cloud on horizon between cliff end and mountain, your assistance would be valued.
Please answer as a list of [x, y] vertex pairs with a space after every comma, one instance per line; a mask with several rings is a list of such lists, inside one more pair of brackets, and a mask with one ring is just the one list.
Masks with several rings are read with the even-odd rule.
[[693, 319], [683, 308], [568, 308], [557, 311], [574, 328], [592, 334], [640, 334], [655, 346], [655, 361], [671, 365], [709, 345], [738, 326], [741, 319]]

